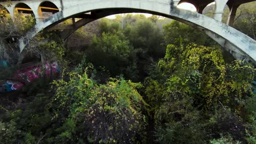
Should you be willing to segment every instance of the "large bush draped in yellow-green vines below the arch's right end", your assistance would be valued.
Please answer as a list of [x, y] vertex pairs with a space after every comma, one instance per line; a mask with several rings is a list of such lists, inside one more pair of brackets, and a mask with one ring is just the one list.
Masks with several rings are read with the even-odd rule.
[[[146, 79], [146, 101], [155, 111], [156, 141], [207, 143], [219, 138], [214, 131], [245, 141], [245, 125], [231, 113], [241, 115], [245, 99], [252, 97], [254, 73], [243, 62], [225, 64], [216, 47], [184, 46], [182, 41], [168, 45], [165, 58]], [[230, 112], [222, 111], [223, 106], [230, 107]]]

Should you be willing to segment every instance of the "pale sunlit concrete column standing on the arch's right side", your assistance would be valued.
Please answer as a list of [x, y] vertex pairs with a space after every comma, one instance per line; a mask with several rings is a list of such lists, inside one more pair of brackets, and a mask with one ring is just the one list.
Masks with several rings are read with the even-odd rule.
[[213, 18], [217, 21], [222, 21], [222, 14], [228, 0], [214, 0], [215, 1], [215, 11]]

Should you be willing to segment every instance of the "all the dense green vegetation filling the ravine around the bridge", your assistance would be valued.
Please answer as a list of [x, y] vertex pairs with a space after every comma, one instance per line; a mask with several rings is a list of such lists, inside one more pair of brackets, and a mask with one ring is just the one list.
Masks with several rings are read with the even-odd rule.
[[40, 33], [21, 55], [9, 38], [34, 19], [3, 14], [0, 60], [11, 66], [0, 78], [31, 59], [58, 61], [62, 75], [0, 95], [0, 143], [256, 143], [254, 65], [234, 61], [193, 27], [118, 15], [65, 42]]

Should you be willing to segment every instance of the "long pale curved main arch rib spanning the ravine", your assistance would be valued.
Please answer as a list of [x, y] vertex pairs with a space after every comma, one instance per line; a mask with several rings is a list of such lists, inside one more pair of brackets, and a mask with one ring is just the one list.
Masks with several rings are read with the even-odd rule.
[[[165, 4], [159, 1], [146, 0], [102, 0], [90, 3], [80, 3], [78, 5], [65, 8], [50, 16], [48, 19], [37, 23], [31, 31], [27, 32], [26, 35], [19, 40], [20, 51], [24, 50], [24, 47], [28, 44], [27, 38], [34, 37], [43, 29], [52, 27], [71, 17], [85, 16], [85, 13], [88, 12], [92, 12], [92, 17], [89, 17], [89, 19], [94, 19], [93, 12], [97, 10], [120, 11], [119, 13], [123, 13], [123, 11], [127, 11], [129, 13], [150, 13], [168, 17], [201, 29], [201, 31], [210, 35], [210, 37], [216, 40], [223, 47], [231, 47], [231, 50], [242, 53], [253, 62], [256, 62], [256, 42], [247, 35], [210, 17], [193, 13], [189, 10], [178, 9], [172, 3]], [[95, 15], [97, 16], [97, 14]]]

